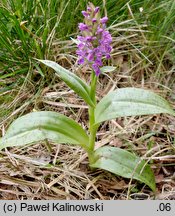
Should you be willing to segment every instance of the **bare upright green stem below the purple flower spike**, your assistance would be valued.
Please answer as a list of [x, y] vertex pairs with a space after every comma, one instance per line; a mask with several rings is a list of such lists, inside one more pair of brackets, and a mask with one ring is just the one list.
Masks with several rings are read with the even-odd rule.
[[[94, 72], [91, 74], [91, 90], [90, 90], [90, 96], [92, 101], [94, 102], [96, 106], [96, 83], [97, 83], [97, 76]], [[96, 138], [96, 132], [98, 127], [94, 125], [95, 123], [95, 107], [89, 107], [89, 160], [90, 162], [93, 160], [93, 151], [95, 147], [95, 138]]]

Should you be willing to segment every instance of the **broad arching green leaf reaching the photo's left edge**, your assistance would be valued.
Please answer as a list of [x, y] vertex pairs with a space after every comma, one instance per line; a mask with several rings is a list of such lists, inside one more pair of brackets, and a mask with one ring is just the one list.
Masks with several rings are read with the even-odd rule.
[[0, 149], [27, 145], [49, 139], [57, 143], [70, 143], [86, 148], [89, 138], [74, 120], [56, 112], [41, 111], [15, 120], [0, 140]]

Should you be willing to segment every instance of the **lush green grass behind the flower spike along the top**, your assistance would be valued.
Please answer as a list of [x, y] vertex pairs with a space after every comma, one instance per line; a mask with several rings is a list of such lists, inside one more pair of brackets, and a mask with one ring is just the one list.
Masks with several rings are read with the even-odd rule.
[[[137, 28], [142, 41], [135, 46], [144, 47], [143, 53], [150, 62], [160, 67], [165, 56], [171, 55], [174, 60], [174, 1], [92, 2], [108, 13], [111, 28], [118, 26], [119, 31], [116, 28], [114, 35], [128, 35]], [[81, 10], [86, 3], [78, 0], [1, 0], [0, 78], [26, 74], [29, 65], [35, 65], [32, 58], [52, 59], [52, 45], [56, 39], [76, 36], [77, 23], [81, 21]]]

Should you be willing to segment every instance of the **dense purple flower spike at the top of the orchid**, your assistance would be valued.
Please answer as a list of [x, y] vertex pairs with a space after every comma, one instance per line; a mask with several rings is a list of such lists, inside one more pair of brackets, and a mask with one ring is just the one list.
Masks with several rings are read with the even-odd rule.
[[103, 65], [102, 58], [109, 59], [112, 50], [112, 37], [106, 30], [108, 18], [100, 19], [100, 8], [94, 7], [92, 3], [87, 7], [87, 11], [82, 11], [82, 14], [84, 23], [79, 23], [81, 35], [77, 37], [78, 64], [88, 64], [98, 76]]

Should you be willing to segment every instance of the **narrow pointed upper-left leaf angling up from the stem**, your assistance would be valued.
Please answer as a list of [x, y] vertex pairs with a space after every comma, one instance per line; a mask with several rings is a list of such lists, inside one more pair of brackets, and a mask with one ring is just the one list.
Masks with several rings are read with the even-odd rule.
[[95, 106], [93, 101], [90, 98], [90, 87], [81, 80], [77, 75], [71, 73], [65, 68], [61, 67], [59, 64], [49, 61], [49, 60], [38, 60], [43, 64], [51, 67], [56, 71], [56, 73], [60, 76], [60, 78], [72, 89], [74, 90], [80, 97], [82, 97], [87, 104], [90, 106]]

